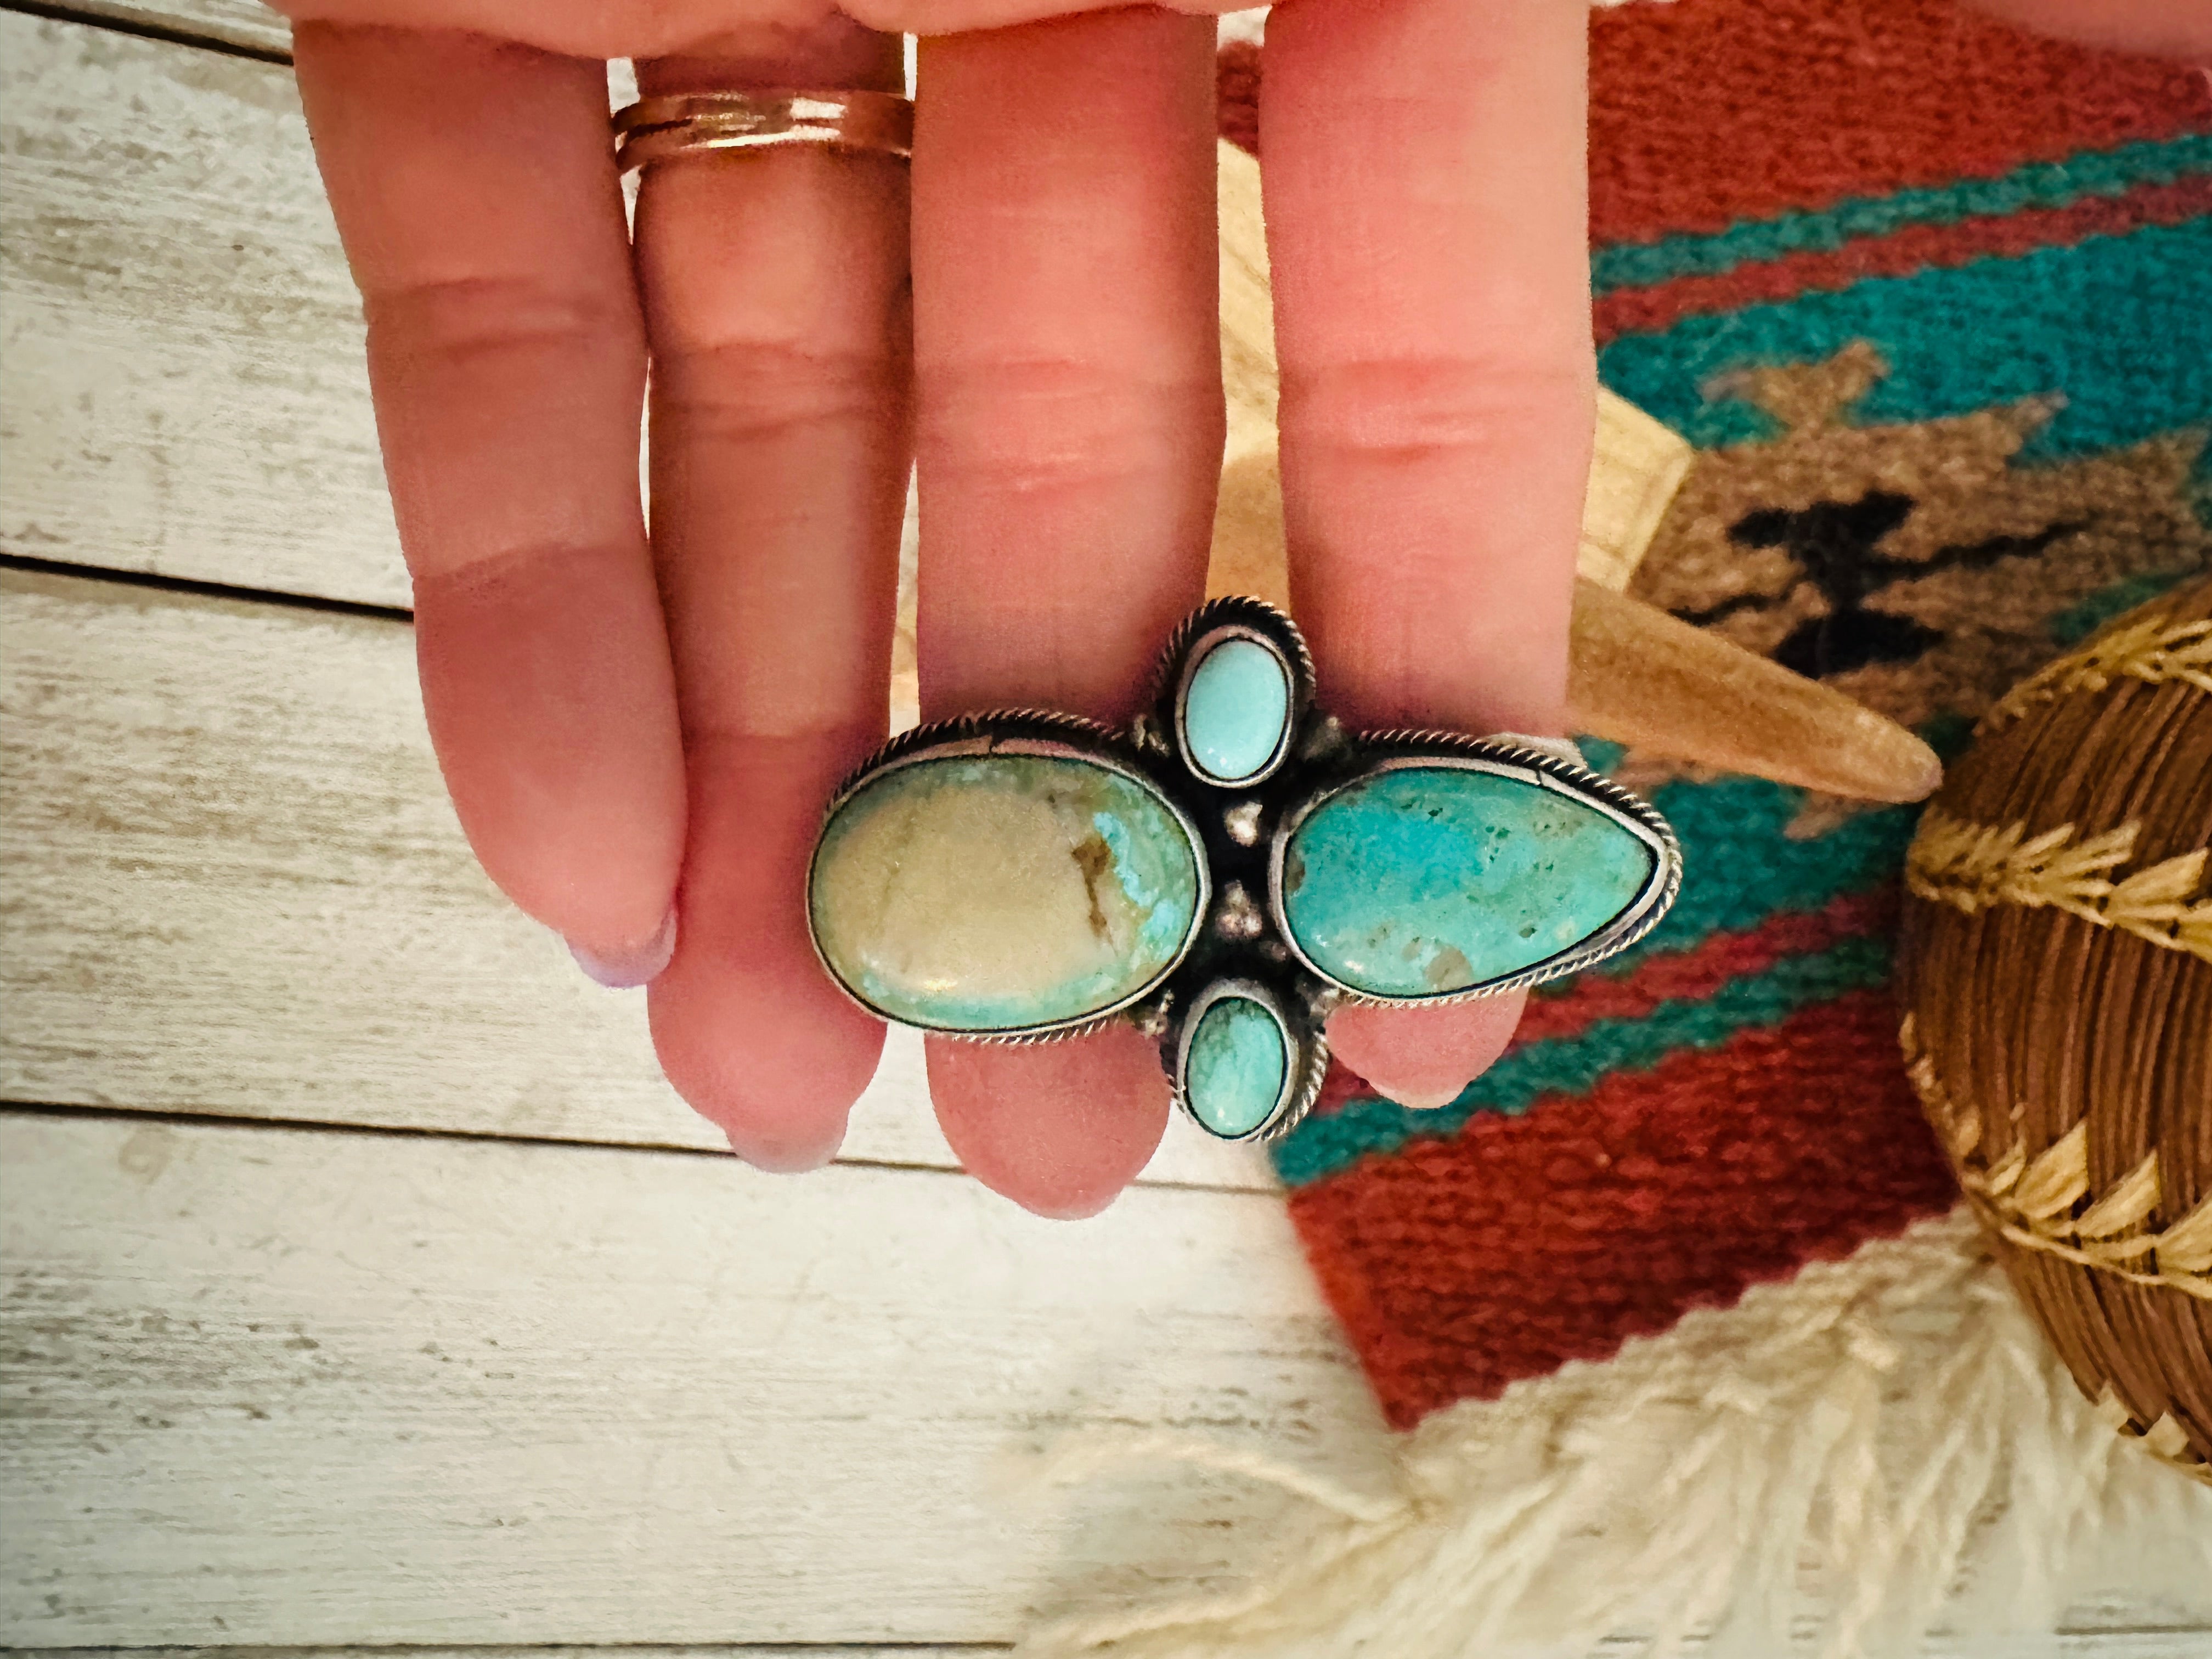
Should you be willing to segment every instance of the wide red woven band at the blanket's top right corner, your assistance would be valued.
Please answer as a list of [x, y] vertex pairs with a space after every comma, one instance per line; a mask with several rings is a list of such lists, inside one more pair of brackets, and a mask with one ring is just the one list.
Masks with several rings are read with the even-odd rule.
[[1590, 18], [1590, 239], [1725, 230], [2208, 126], [2212, 86], [2185, 64], [1947, 0], [1621, 7]]

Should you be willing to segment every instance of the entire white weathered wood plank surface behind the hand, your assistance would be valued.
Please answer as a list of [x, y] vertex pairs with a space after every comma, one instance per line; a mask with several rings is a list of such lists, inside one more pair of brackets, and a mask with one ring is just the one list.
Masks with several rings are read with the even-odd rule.
[[[0, 577], [0, 1641], [949, 1659], [1263, 1548], [1208, 1480], [1024, 1511], [1042, 1438], [1374, 1480], [1250, 1157], [1177, 1135], [1181, 1188], [1037, 1223], [942, 1168], [911, 1048], [852, 1164], [686, 1155], [637, 998], [467, 860], [403, 622], [97, 580], [407, 602], [290, 77], [239, 55], [281, 20], [80, 11], [223, 49], [0, 9], [0, 553], [88, 577]], [[1929, 1652], [2212, 1655], [2070, 1624]]]

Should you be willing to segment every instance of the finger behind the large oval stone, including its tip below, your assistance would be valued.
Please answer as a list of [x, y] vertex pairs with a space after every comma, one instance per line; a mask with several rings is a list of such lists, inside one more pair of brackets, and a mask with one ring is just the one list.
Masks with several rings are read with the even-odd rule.
[[[1152, 9], [922, 42], [914, 150], [920, 675], [931, 719], [1126, 719], [1203, 597], [1221, 465], [1212, 24]], [[929, 1046], [960, 1159], [1044, 1214], [1144, 1168], [1135, 1033]]]

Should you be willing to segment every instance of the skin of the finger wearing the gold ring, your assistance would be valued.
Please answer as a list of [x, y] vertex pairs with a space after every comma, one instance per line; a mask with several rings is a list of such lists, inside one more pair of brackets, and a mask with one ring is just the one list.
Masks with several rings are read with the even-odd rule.
[[[830, 22], [774, 55], [639, 64], [648, 95], [900, 84], [896, 40]], [[909, 456], [907, 179], [883, 155], [650, 168], [653, 546], [692, 836], [653, 984], [670, 1082], [763, 1168], [845, 1135], [883, 1026], [823, 975], [805, 869], [838, 776], [883, 741]]]

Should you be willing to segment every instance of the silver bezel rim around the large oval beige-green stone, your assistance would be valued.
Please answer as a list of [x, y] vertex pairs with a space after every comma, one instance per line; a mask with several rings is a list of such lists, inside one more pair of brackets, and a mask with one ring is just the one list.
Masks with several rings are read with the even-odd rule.
[[1214, 909], [1214, 883], [1212, 869], [1206, 858], [1206, 836], [1199, 832], [1197, 818], [1190, 810], [1177, 801], [1159, 779], [1135, 763], [1130, 754], [1124, 752], [1115, 734], [1086, 719], [1073, 714], [1055, 714], [1051, 710], [1006, 710], [1002, 714], [962, 714], [951, 721], [936, 721], [933, 726], [918, 726], [911, 732], [900, 732], [889, 743], [885, 743], [876, 754], [863, 761], [845, 781], [838, 785], [836, 794], [830, 796], [830, 805], [823, 810], [823, 830], [836, 818], [836, 814], [852, 801], [863, 787], [874, 785], [878, 779], [891, 776], [894, 772], [905, 772], [914, 765], [927, 765], [931, 761], [953, 761], [984, 754], [1006, 754], [1006, 757], [1037, 757], [1037, 759], [1073, 759], [1086, 765], [1104, 768], [1121, 779], [1128, 779], [1137, 787], [1155, 796], [1175, 816], [1175, 823], [1183, 832], [1183, 841], [1190, 847], [1190, 860], [1199, 872], [1197, 907], [1190, 916], [1190, 927], [1183, 931], [1181, 945], [1177, 945], [1175, 956], [1168, 958], [1150, 980], [1139, 984], [1128, 995], [1115, 1000], [1102, 1009], [1086, 1009], [1073, 1020], [1051, 1020], [1033, 1026], [1009, 1026], [1002, 1031], [962, 1031], [958, 1026], [933, 1026], [916, 1020], [907, 1020], [887, 1009], [869, 1002], [860, 991], [847, 984], [838, 971], [830, 964], [827, 951], [823, 951], [821, 933], [814, 927], [814, 867], [821, 860], [823, 836], [814, 838], [814, 852], [807, 854], [807, 945], [814, 947], [814, 960], [821, 962], [823, 973], [830, 982], [845, 993], [849, 1002], [865, 1009], [878, 1020], [891, 1024], [911, 1026], [916, 1031], [927, 1031], [933, 1037], [958, 1037], [962, 1042], [989, 1042], [1004, 1046], [1026, 1046], [1033, 1042], [1057, 1042], [1060, 1037], [1082, 1037], [1093, 1031], [1104, 1031], [1121, 1013], [1135, 1009], [1146, 998], [1155, 995], [1190, 958], [1190, 947], [1206, 931], [1208, 920]]

